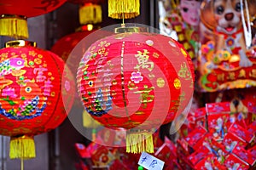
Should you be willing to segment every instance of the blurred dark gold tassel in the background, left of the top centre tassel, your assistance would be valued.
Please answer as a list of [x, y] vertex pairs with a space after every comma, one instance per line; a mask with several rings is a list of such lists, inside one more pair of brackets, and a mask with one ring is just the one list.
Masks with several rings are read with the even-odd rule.
[[81, 25], [102, 22], [102, 6], [86, 3], [79, 8], [79, 22]]

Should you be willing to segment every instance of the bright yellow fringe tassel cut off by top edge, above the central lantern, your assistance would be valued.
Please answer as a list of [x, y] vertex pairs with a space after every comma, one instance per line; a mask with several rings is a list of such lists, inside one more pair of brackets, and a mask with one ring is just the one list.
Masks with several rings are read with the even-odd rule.
[[140, 0], [108, 0], [108, 16], [131, 19], [140, 14]]

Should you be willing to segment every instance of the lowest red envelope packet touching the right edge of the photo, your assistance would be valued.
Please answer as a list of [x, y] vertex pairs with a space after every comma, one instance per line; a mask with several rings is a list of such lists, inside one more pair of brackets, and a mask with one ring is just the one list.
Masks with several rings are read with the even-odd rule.
[[251, 166], [253, 166], [256, 162], [256, 160], [253, 158], [253, 154], [251, 154], [249, 151], [245, 150], [241, 146], [236, 146], [233, 150], [233, 153], [241, 160], [246, 161]]

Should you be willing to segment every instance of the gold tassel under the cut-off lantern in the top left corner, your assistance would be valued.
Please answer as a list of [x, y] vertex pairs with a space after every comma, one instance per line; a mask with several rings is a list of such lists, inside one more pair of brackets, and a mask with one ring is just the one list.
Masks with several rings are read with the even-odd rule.
[[28, 38], [26, 17], [17, 15], [1, 15], [0, 35], [26, 39]]

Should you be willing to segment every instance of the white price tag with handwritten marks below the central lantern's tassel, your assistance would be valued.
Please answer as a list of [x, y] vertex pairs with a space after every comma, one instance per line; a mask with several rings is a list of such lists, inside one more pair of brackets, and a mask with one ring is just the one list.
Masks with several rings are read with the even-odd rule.
[[148, 170], [161, 170], [164, 167], [165, 161], [161, 161], [160, 159], [143, 152], [137, 163]]

